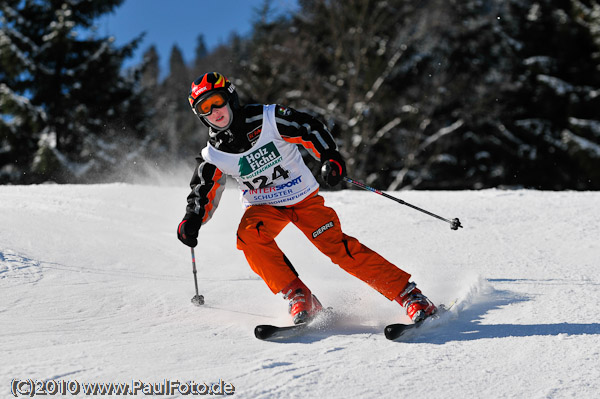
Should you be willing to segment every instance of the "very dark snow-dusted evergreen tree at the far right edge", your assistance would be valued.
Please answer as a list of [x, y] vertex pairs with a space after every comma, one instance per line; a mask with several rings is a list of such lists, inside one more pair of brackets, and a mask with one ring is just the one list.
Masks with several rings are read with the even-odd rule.
[[514, 181], [600, 189], [600, 3], [511, 1], [520, 63], [507, 127], [521, 141]]

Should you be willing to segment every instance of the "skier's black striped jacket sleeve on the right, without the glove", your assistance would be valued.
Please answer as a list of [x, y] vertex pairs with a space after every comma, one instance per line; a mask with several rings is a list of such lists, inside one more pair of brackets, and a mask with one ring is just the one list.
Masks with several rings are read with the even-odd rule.
[[316, 159], [324, 161], [329, 154], [338, 152], [325, 124], [305, 112], [276, 105], [275, 121], [285, 141], [302, 145]]

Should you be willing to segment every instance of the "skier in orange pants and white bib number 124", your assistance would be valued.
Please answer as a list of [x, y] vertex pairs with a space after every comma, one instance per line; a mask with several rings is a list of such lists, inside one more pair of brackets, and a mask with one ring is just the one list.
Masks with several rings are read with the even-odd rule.
[[289, 301], [294, 324], [308, 322], [322, 305], [274, 241], [290, 222], [333, 263], [399, 302], [414, 322], [436, 311], [409, 282], [410, 274], [344, 234], [336, 212], [324, 205], [297, 146], [321, 161], [321, 176], [329, 186], [339, 184], [346, 175], [345, 163], [323, 123], [282, 105], [242, 106], [234, 85], [216, 72], [197, 78], [188, 100], [208, 127], [209, 141], [196, 158], [192, 191], [177, 229], [181, 242], [198, 244], [198, 231], [213, 215], [230, 175], [246, 207], [237, 248], [271, 291]]

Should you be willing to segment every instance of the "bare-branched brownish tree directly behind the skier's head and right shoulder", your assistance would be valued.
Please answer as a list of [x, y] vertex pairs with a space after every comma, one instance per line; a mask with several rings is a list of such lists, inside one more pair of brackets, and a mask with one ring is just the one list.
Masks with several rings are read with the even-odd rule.
[[299, 6], [292, 18], [268, 18], [268, 1], [259, 10], [251, 53], [244, 58], [251, 71], [247, 81], [267, 101], [324, 120], [350, 173], [364, 177], [378, 168], [370, 164], [378, 135], [396, 123], [397, 109], [381, 117], [387, 91], [382, 82], [398, 61], [401, 49], [391, 45], [392, 38], [411, 5], [302, 0]]

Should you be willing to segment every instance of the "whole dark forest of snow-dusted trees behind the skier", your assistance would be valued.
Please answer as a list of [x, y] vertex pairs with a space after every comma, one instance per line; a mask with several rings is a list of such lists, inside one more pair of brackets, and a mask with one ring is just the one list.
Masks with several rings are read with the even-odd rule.
[[154, 46], [124, 67], [143, 32], [99, 33], [122, 2], [0, 2], [0, 184], [191, 175], [208, 132], [187, 94], [219, 71], [243, 103], [320, 118], [382, 189], [600, 189], [597, 0], [265, 0], [250, 34], [208, 51], [200, 27], [168, 71]]

